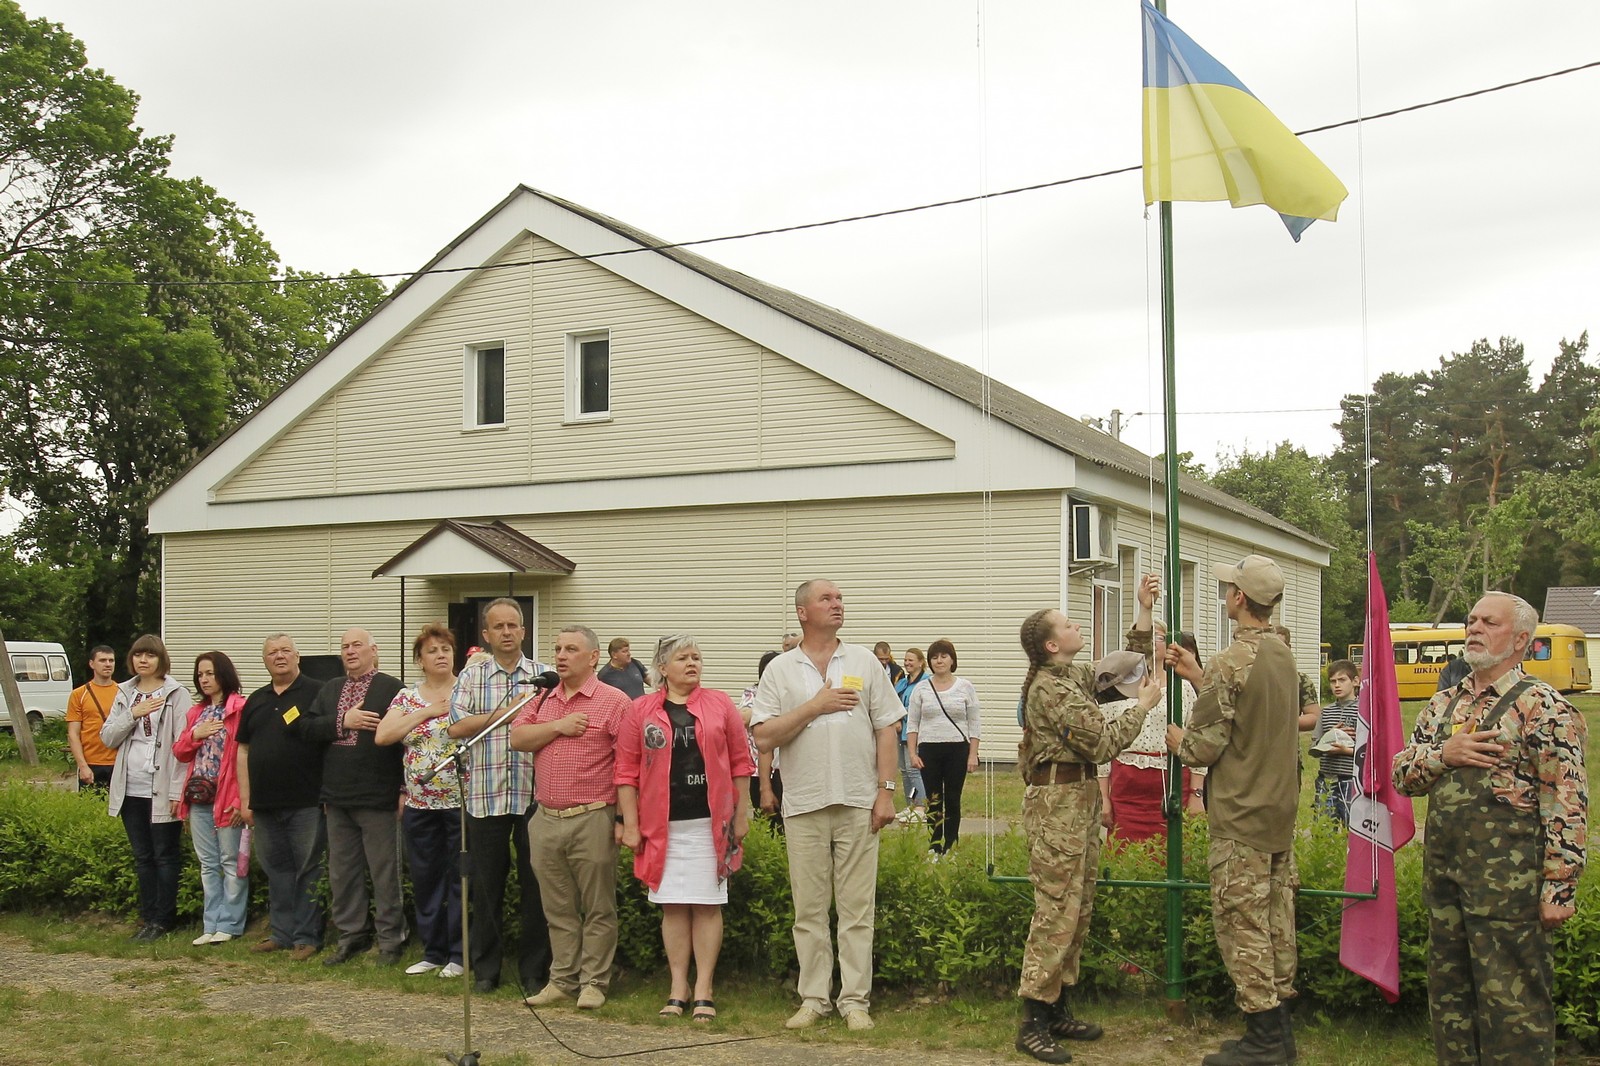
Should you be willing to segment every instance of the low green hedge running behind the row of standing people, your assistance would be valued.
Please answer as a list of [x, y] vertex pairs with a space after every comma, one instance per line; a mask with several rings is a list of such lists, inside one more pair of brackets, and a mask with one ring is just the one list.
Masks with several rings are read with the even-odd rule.
[[[968, 837], [952, 860], [930, 866], [917, 831], [886, 832], [878, 860], [877, 980], [899, 988], [987, 989], [1013, 994], [1022, 940], [1032, 916], [1032, 888], [997, 884], [984, 863], [984, 839]], [[1186, 880], [1205, 882], [1206, 831], [1187, 820]], [[994, 840], [995, 872], [1027, 872], [1021, 834]], [[1325, 820], [1301, 831], [1296, 845], [1301, 884], [1338, 888], [1344, 884], [1344, 834]], [[662, 965], [659, 909], [634, 880], [632, 856], [619, 858], [619, 962], [637, 972]], [[1160, 880], [1165, 860], [1157, 848], [1107, 850], [1107, 876]], [[1421, 848], [1398, 856], [1402, 997], [1384, 1004], [1378, 991], [1339, 965], [1339, 909], [1331, 898], [1301, 896], [1298, 984], [1310, 1010], [1360, 1008], [1378, 1015], [1413, 1015], [1426, 1008], [1426, 914], [1421, 903]], [[1600, 1036], [1600, 914], [1587, 906], [1587, 879], [1579, 888], [1578, 916], [1555, 936], [1557, 1008], [1563, 1028], [1584, 1040]], [[262, 877], [251, 879], [256, 914], [266, 904]], [[136, 885], [122, 824], [106, 816], [96, 795], [61, 792], [24, 783], [0, 787], [0, 908], [94, 911], [131, 916]], [[746, 842], [744, 869], [730, 885], [723, 959], [746, 972], [784, 975], [795, 968], [790, 940], [784, 840], [757, 821]], [[200, 877], [184, 866], [179, 911], [200, 912]], [[1203, 892], [1186, 893], [1184, 967], [1190, 1005], [1232, 1012], [1232, 986], [1211, 935]], [[1157, 888], [1101, 888], [1080, 984], [1086, 992], [1152, 994], [1163, 991], [1165, 893]], [[1130, 972], [1136, 964], [1147, 972]]]

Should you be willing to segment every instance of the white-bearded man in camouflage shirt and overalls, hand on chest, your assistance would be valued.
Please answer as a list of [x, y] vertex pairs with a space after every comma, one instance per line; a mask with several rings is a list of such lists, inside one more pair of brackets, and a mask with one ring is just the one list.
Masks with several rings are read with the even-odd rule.
[[1533, 607], [1490, 592], [1467, 616], [1472, 674], [1440, 690], [1395, 755], [1427, 795], [1427, 1005], [1440, 1063], [1554, 1063], [1549, 932], [1573, 916], [1589, 815], [1581, 714], [1523, 675]]

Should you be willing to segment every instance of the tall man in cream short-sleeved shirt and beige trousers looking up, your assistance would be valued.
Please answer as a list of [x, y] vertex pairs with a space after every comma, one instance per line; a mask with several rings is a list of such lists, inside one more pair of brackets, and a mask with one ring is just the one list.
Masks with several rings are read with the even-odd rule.
[[837, 584], [802, 584], [795, 616], [800, 645], [766, 667], [750, 714], [757, 747], [781, 747], [784, 760], [803, 1000], [784, 1024], [803, 1029], [832, 1008], [832, 901], [838, 911], [838, 1013], [851, 1029], [870, 1029], [877, 832], [894, 821], [896, 723], [906, 711], [872, 651], [838, 640], [845, 597]]

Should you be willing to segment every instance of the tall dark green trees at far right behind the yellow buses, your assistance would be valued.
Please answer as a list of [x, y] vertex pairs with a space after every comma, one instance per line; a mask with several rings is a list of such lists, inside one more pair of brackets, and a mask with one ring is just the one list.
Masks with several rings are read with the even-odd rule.
[[[1365, 523], [1366, 397], [1347, 395], [1330, 467]], [[1426, 621], [1461, 618], [1482, 592], [1534, 605], [1552, 584], [1595, 581], [1600, 368], [1589, 335], [1562, 341], [1534, 386], [1512, 338], [1474, 343], [1432, 371], [1373, 383], [1373, 541], [1384, 581]]]

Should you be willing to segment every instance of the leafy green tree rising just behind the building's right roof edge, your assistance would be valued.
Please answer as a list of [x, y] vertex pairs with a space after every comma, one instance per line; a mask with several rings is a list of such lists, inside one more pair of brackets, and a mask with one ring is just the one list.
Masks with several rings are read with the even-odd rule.
[[1322, 576], [1322, 639], [1360, 640], [1366, 595], [1365, 546], [1350, 527], [1344, 490], [1328, 463], [1288, 442], [1262, 453], [1218, 456], [1211, 483], [1306, 530], [1330, 546]]

